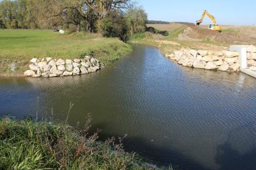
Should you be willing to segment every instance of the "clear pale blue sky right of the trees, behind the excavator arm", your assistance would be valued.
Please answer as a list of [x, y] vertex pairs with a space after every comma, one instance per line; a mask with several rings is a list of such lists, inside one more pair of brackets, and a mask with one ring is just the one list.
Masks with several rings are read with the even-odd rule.
[[[138, 0], [148, 13], [148, 19], [161, 21], [195, 22], [208, 10], [217, 24], [256, 25], [256, 0]], [[210, 24], [205, 18], [202, 24]]]

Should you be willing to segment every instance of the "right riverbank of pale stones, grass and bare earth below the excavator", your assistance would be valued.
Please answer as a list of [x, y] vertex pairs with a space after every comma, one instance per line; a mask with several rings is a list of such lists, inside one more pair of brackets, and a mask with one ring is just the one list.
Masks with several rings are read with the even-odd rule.
[[[239, 53], [229, 51], [229, 46], [253, 42], [246, 38], [247, 36], [242, 39], [237, 33], [234, 34], [227, 29], [220, 34], [194, 25], [179, 25], [174, 30], [165, 31], [169, 34], [167, 36], [157, 34], [161, 31], [163, 30], [155, 29], [155, 33], [151, 31], [134, 35], [130, 42], [157, 47], [166, 58], [182, 66], [207, 70], [240, 72]], [[229, 36], [231, 38], [223, 38]], [[243, 45], [243, 47], [247, 52], [247, 68], [255, 72], [256, 47], [253, 45]]]

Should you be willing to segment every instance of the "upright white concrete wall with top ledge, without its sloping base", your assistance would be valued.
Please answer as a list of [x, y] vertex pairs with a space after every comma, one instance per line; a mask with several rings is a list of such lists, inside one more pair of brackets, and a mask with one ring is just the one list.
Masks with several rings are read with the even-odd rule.
[[240, 45], [235, 45], [235, 46], [230, 46], [229, 50], [238, 52], [239, 53], [238, 59], [241, 64], [241, 68], [242, 69], [247, 68], [247, 50], [246, 50], [246, 48], [243, 46], [240, 46]]

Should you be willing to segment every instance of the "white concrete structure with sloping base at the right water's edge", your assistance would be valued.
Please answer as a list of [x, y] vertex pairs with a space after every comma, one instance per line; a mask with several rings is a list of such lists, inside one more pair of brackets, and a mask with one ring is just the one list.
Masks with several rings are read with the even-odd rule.
[[240, 71], [256, 78], [256, 72], [248, 69], [247, 67], [247, 49], [243, 45], [235, 45], [229, 47], [230, 51], [235, 51], [239, 53], [238, 59], [241, 63]]

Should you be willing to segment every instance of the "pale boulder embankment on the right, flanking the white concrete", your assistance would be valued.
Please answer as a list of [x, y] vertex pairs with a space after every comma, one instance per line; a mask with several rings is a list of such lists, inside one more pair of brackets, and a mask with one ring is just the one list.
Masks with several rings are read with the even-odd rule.
[[[207, 70], [221, 70], [226, 72], [239, 72], [240, 61], [238, 52], [226, 50], [175, 50], [174, 53], [166, 53], [166, 57], [175, 60], [178, 64]], [[256, 71], [256, 47], [247, 47], [247, 66]]]

